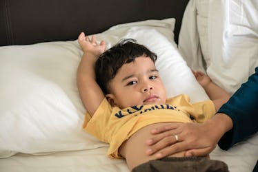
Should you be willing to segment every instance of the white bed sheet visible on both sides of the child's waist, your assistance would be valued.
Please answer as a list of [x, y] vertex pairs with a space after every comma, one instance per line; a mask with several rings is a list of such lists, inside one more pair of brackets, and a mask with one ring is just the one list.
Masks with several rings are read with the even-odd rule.
[[[258, 135], [257, 135], [258, 137]], [[248, 148], [246, 147], [248, 144]], [[229, 151], [216, 147], [210, 158], [228, 164], [231, 172], [252, 171], [258, 150], [255, 138], [239, 143]], [[111, 159], [106, 156], [108, 147], [83, 151], [63, 151], [49, 155], [29, 155], [17, 153], [0, 160], [1, 172], [129, 172], [125, 160]]]

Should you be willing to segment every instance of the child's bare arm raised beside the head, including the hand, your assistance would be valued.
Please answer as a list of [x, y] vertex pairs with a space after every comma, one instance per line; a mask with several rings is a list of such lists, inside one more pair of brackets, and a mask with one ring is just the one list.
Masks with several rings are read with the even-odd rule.
[[83, 105], [90, 116], [93, 116], [101, 101], [105, 98], [96, 82], [95, 62], [99, 55], [105, 51], [106, 45], [103, 41], [98, 44], [95, 36], [90, 39], [83, 32], [79, 35], [78, 42], [83, 50], [83, 56], [77, 69], [77, 87]]

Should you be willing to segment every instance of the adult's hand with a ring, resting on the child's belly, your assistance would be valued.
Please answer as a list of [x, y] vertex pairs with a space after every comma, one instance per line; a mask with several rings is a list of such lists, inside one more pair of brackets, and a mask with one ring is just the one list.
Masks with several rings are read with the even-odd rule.
[[[222, 127], [224, 128], [224, 127]], [[215, 122], [175, 123], [151, 131], [153, 137], [147, 140], [148, 155], [163, 158], [180, 151], [185, 156], [205, 156], [215, 149], [224, 131], [218, 129]], [[175, 135], [177, 135], [178, 140]]]

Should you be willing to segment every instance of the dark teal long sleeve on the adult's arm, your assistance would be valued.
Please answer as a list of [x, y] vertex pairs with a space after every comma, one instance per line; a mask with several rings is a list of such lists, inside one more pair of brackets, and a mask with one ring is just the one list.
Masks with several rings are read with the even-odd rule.
[[221, 149], [227, 150], [258, 131], [258, 67], [217, 113], [228, 115], [233, 122], [233, 128], [219, 140]]

